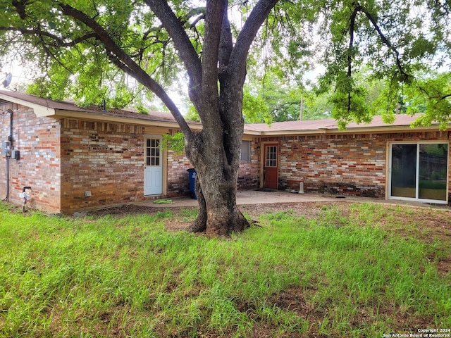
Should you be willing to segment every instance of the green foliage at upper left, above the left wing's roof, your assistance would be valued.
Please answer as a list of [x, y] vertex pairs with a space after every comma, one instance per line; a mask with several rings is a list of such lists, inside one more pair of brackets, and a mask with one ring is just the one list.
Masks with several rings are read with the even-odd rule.
[[[96, 4], [70, 1], [70, 5], [94, 17], [119, 48], [131, 57], [136, 56], [144, 71], [152, 72], [163, 84], [169, 83], [178, 73], [178, 57], [172, 46], [162, 48], [168, 39], [166, 32], [161, 31], [158, 35], [154, 32], [154, 37], [160, 39], [157, 43], [142, 38], [147, 27], [154, 25], [155, 18], [141, 1], [101, 1]], [[10, 22], [11, 27], [26, 27], [37, 32], [47, 31], [48, 34], [16, 36], [0, 30], [3, 33], [0, 41], [5, 46], [11, 45], [9, 48], [15, 44], [35, 46], [27, 47], [21, 56], [23, 63], [34, 63], [37, 69], [42, 70], [27, 92], [56, 100], [75, 99], [79, 106], [100, 106], [104, 100], [111, 108], [142, 106], [142, 97], [146, 95], [142, 85], [130, 81], [130, 77], [111, 63], [104, 45], [94, 36], [89, 37], [92, 32], [88, 27], [61, 15], [54, 1], [29, 2], [25, 11], [26, 18], [21, 20], [10, 5], [6, 11], [8, 15], [3, 19]], [[5, 49], [1, 56], [11, 56], [10, 51]], [[168, 67], [160, 68], [162, 63]]]

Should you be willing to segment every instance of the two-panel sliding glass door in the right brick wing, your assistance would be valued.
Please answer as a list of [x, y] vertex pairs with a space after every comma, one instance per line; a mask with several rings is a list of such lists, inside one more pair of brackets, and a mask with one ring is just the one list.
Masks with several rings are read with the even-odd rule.
[[447, 202], [447, 143], [391, 144], [389, 195]]

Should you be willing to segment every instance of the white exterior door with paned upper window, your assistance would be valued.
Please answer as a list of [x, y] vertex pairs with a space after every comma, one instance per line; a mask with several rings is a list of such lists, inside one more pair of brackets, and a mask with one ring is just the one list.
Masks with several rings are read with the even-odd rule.
[[144, 195], [163, 194], [161, 137], [147, 137], [144, 154]]

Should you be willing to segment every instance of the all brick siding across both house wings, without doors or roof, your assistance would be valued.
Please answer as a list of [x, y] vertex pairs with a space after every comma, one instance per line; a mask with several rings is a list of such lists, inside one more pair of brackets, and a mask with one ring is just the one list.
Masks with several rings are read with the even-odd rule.
[[[21, 205], [23, 187], [32, 187], [31, 208], [73, 213], [85, 208], [144, 201], [145, 128], [75, 118], [37, 118], [32, 108], [13, 109], [13, 146], [9, 200]], [[9, 115], [0, 116], [0, 142], [9, 135]], [[169, 131], [169, 130], [168, 130]], [[278, 144], [279, 189], [384, 198], [390, 142], [450, 142], [451, 132], [391, 134], [316, 134], [252, 139], [250, 161], [242, 161], [238, 189], [260, 186], [264, 142]], [[448, 149], [451, 152], [451, 145]], [[163, 151], [166, 196], [190, 194], [184, 155]], [[451, 156], [448, 156], [451, 168]], [[164, 178], [163, 178], [164, 179]], [[448, 170], [451, 201], [451, 170]], [[85, 192], [91, 192], [85, 197]], [[0, 156], [0, 199], [6, 196], [6, 158]], [[160, 197], [160, 196], [159, 196]]]

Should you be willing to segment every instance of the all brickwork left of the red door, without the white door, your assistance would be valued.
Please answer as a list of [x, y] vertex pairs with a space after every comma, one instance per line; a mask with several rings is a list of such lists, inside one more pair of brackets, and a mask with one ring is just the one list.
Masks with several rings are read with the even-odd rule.
[[[10, 160], [10, 196], [15, 204], [23, 187], [32, 187], [29, 206], [48, 213], [144, 201], [144, 127], [66, 118], [36, 118], [31, 108], [13, 108], [13, 145], [20, 161]], [[18, 109], [18, 111], [17, 111]], [[9, 134], [9, 115], [1, 120], [1, 140]], [[258, 158], [242, 162], [240, 188], [257, 187]], [[166, 151], [166, 196], [190, 194], [184, 155]], [[61, 161], [63, 158], [63, 161]], [[85, 197], [85, 192], [91, 197]], [[6, 158], [0, 158], [0, 198], [6, 196]], [[152, 198], [152, 197], [151, 197]]]

